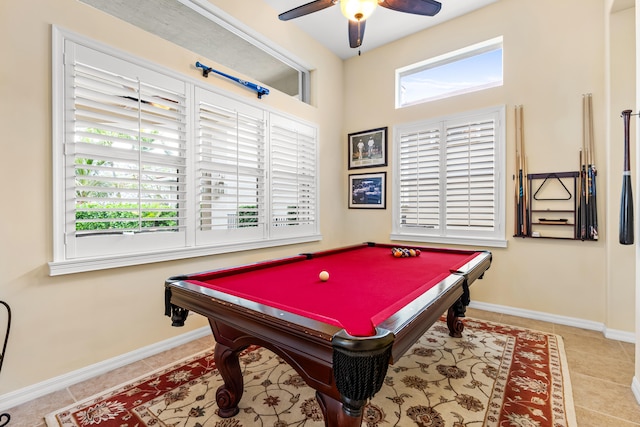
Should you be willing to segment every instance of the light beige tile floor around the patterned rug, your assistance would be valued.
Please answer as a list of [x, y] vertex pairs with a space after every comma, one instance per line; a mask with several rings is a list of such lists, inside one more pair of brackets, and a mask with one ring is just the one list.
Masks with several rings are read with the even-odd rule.
[[[571, 373], [578, 426], [640, 427], [640, 405], [631, 391], [633, 344], [606, 339], [600, 332], [506, 314], [469, 309], [467, 315], [561, 335]], [[44, 427], [45, 414], [212, 345], [212, 338], [202, 338], [10, 409], [8, 427]]]

